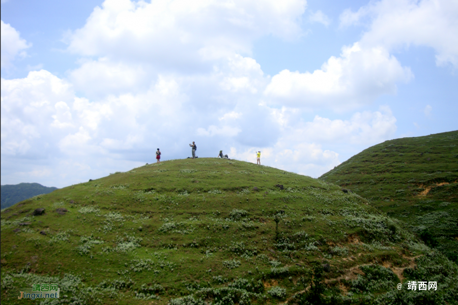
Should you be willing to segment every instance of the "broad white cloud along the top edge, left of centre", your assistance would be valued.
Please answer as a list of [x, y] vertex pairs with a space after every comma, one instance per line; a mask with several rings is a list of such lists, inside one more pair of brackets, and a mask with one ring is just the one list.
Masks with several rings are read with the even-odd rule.
[[106, 0], [67, 37], [71, 52], [152, 61], [162, 69], [201, 69], [207, 60], [249, 53], [254, 39], [295, 39], [305, 0]]

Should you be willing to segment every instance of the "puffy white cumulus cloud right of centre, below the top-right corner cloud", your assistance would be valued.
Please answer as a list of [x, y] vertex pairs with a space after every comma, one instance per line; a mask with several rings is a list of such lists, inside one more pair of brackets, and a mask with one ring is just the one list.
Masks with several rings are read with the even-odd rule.
[[410, 69], [402, 67], [386, 49], [364, 49], [355, 43], [343, 47], [340, 57], [332, 56], [313, 73], [281, 71], [272, 77], [264, 94], [282, 105], [342, 110], [394, 94], [396, 82], [411, 78]]

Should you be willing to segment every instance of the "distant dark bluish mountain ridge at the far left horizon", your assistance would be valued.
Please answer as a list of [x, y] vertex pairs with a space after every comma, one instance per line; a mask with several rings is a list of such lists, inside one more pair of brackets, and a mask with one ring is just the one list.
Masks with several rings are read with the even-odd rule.
[[55, 187], [45, 187], [38, 183], [20, 183], [17, 185], [0, 186], [2, 209], [12, 206], [22, 200], [57, 190]]

